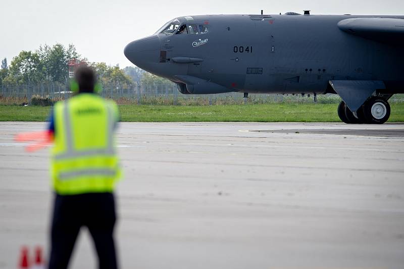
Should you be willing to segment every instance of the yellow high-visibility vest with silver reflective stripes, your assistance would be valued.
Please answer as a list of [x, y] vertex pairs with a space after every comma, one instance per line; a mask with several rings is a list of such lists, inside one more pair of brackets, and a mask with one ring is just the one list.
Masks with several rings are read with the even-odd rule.
[[55, 104], [54, 120], [51, 173], [56, 192], [112, 192], [121, 176], [114, 146], [116, 103], [80, 93]]

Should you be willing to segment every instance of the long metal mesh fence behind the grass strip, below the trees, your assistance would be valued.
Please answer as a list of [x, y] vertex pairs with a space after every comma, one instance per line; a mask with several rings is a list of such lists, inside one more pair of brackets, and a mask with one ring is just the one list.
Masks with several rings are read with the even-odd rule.
[[[307, 94], [249, 94], [243, 98], [243, 93], [229, 92], [221, 94], [181, 94], [175, 83], [158, 83], [138, 81], [133, 83], [102, 84], [102, 95], [117, 101], [118, 104], [173, 104], [173, 105], [208, 105], [208, 104], [241, 104], [248, 103], [310, 103], [314, 96]], [[0, 87], [0, 103], [3, 104], [49, 104], [56, 100], [69, 98], [73, 93], [67, 82], [43, 81], [39, 83], [3, 84]], [[43, 99], [47, 100], [43, 102]], [[37, 100], [41, 102], [37, 103]], [[320, 103], [338, 103], [336, 94], [317, 95]], [[396, 94], [390, 102], [404, 102], [402, 94]]]

